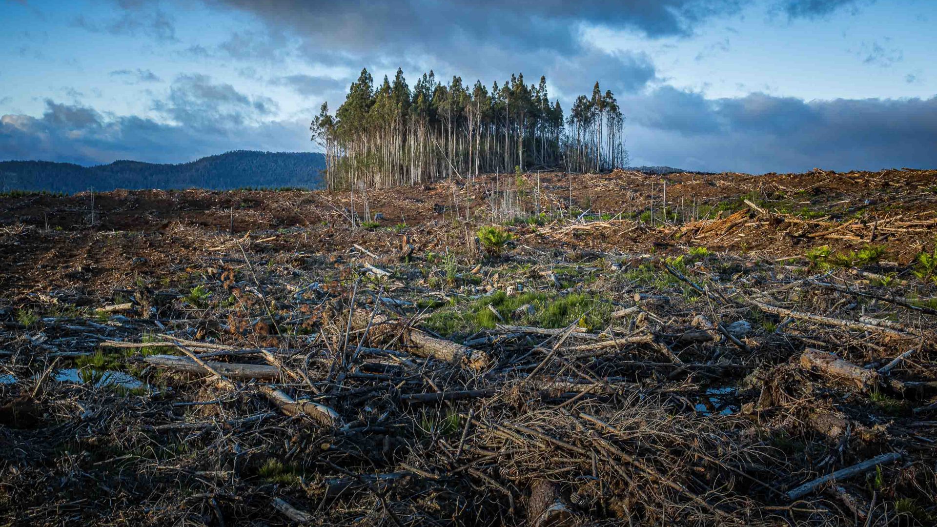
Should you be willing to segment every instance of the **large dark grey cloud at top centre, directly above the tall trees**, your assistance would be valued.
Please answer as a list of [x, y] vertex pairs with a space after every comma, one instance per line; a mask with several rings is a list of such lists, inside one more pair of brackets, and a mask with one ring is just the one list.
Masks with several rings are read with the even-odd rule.
[[[699, 24], [735, 13], [751, 0], [203, 2], [246, 13], [264, 30], [235, 33], [221, 49], [193, 53], [227, 50], [244, 60], [277, 60], [282, 53], [295, 53], [309, 64], [388, 71], [401, 67], [411, 75], [434, 69], [439, 78], [455, 74], [469, 83], [501, 82], [519, 71], [537, 78], [546, 73], [548, 81], [559, 82], [567, 75], [551, 72], [572, 67], [589, 79], [570, 83], [582, 81], [590, 89], [599, 79], [636, 90], [655, 78], [650, 59], [595, 49], [583, 40], [584, 27], [627, 29], [649, 38], [687, 36]], [[579, 66], [583, 61], [587, 65]], [[612, 80], [609, 70], [621, 72], [621, 80]]]

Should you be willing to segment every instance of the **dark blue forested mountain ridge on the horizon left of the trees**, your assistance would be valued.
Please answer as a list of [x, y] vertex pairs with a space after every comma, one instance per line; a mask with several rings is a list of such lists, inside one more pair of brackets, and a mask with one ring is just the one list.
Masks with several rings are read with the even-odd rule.
[[178, 165], [119, 160], [82, 167], [51, 161], [0, 161], [0, 190], [75, 193], [115, 188], [323, 188], [318, 152], [236, 150]]

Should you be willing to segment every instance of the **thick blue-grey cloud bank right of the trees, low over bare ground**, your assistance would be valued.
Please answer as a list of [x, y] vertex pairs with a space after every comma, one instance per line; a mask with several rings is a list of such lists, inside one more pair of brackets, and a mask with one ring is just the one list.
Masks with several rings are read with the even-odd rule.
[[937, 97], [706, 99], [667, 86], [623, 102], [635, 164], [750, 173], [937, 165]]

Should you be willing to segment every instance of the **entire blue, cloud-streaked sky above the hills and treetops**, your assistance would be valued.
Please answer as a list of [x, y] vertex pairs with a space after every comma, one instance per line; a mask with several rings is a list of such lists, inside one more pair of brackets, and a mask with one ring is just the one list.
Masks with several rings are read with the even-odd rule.
[[315, 151], [362, 68], [598, 81], [632, 165], [937, 167], [933, 0], [0, 0], [0, 160]]

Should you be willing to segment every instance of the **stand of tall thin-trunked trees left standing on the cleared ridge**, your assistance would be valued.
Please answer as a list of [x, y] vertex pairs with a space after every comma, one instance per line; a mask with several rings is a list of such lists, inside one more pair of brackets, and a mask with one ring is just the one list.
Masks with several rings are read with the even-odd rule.
[[432, 71], [409, 88], [403, 71], [375, 89], [363, 69], [335, 115], [323, 103], [309, 127], [325, 149], [329, 188], [413, 185], [480, 173], [538, 168], [573, 172], [624, 166], [624, 118], [611, 91], [595, 83], [563, 119], [546, 79], [526, 84], [512, 75], [488, 89]]

